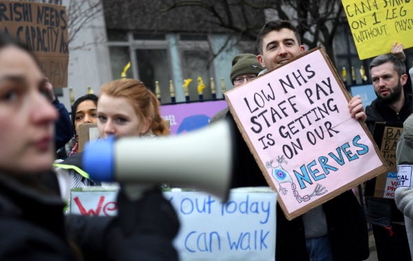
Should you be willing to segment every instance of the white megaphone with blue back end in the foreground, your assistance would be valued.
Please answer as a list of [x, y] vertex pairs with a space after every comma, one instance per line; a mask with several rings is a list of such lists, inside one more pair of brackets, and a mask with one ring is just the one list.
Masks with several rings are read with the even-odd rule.
[[235, 169], [232, 131], [231, 123], [222, 121], [173, 137], [108, 138], [87, 146], [83, 167], [92, 180], [120, 182], [127, 194], [170, 182], [226, 201]]

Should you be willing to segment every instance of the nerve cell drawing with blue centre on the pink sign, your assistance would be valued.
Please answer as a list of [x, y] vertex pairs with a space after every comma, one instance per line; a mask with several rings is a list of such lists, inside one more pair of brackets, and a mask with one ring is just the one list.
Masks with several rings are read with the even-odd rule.
[[326, 189], [326, 187], [322, 187], [321, 185], [317, 184], [317, 186], [314, 189], [313, 194], [311, 195], [306, 195], [304, 197], [301, 198], [301, 196], [299, 196], [298, 191], [297, 191], [297, 187], [295, 186], [294, 182], [293, 182], [293, 178], [291, 178], [290, 174], [282, 168], [282, 163], [284, 163], [285, 165], [287, 165], [287, 161], [284, 159], [284, 155], [283, 156], [278, 156], [277, 158], [277, 162], [278, 162], [278, 166], [277, 167], [273, 167], [273, 162], [274, 160], [270, 160], [269, 162], [267, 161], [265, 163], [265, 166], [267, 169], [272, 169], [271, 174], [273, 175], [273, 177], [275, 178], [275, 180], [277, 180], [278, 185], [279, 185], [279, 192], [282, 193], [283, 195], [286, 195], [288, 190], [284, 187], [281, 186], [282, 183], [286, 183], [286, 182], [290, 182], [291, 183], [291, 189], [293, 189], [293, 194], [295, 196], [295, 198], [297, 199], [297, 201], [299, 203], [303, 202], [303, 201], [308, 201], [310, 200], [310, 198], [312, 198], [313, 196], [321, 196], [327, 193], [327, 191], [323, 191], [324, 189]]

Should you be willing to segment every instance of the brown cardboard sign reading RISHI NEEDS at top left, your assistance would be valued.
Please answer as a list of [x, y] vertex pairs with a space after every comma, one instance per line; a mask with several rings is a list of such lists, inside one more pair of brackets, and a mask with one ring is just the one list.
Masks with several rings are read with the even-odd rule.
[[67, 87], [66, 7], [50, 3], [0, 1], [0, 31], [25, 44], [53, 87]]

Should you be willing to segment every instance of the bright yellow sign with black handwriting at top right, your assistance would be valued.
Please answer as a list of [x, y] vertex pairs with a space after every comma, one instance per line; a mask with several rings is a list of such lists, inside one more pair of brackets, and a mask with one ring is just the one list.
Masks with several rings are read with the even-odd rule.
[[412, 0], [342, 0], [361, 60], [413, 47]]

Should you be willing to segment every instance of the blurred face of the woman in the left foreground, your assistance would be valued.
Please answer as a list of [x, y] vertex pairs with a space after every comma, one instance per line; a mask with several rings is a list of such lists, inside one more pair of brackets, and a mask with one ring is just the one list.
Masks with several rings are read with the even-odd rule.
[[0, 169], [29, 174], [50, 169], [54, 121], [36, 61], [17, 47], [0, 50]]

